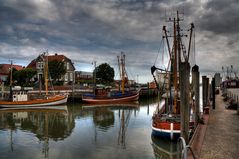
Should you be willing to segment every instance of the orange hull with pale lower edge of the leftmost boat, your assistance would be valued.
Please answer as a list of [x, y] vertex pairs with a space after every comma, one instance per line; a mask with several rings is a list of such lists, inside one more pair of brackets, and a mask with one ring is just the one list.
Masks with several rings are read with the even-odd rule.
[[39, 107], [39, 106], [54, 106], [61, 105], [67, 102], [67, 95], [56, 95], [47, 99], [35, 99], [29, 101], [0, 101], [0, 107], [15, 108], [15, 107]]

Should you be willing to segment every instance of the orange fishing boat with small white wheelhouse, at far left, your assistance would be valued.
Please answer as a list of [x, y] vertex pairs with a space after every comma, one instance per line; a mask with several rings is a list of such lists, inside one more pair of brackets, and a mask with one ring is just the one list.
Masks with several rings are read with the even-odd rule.
[[[67, 102], [67, 94], [48, 94], [48, 56], [46, 53], [41, 55], [45, 62], [44, 65], [44, 79], [45, 79], [45, 94], [32, 97], [29, 94], [29, 89], [22, 87], [12, 87], [12, 80], [10, 80], [10, 93], [9, 98], [0, 101], [0, 107], [13, 108], [13, 107], [39, 107], [39, 106], [54, 106], [61, 105]], [[10, 70], [10, 77], [12, 69]], [[11, 78], [12, 79], [12, 78]], [[41, 92], [41, 91], [40, 91]]]

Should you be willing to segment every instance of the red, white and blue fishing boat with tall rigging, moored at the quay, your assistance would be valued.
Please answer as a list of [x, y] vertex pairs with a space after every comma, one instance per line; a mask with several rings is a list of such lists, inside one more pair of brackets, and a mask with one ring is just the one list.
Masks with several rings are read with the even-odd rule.
[[[189, 40], [189, 49], [186, 50], [185, 45], [183, 45], [181, 34], [181, 28], [179, 26], [179, 22], [181, 19], [179, 18], [179, 13], [177, 12], [176, 18], [170, 19], [171, 22], [173, 22], [173, 47], [170, 48], [170, 43], [168, 40], [167, 33], [169, 32], [166, 29], [166, 26], [163, 27], [163, 31], [165, 36], [163, 38], [167, 41], [167, 47], [169, 52], [169, 62], [167, 69], [160, 69], [155, 66], [151, 68], [151, 73], [154, 76], [154, 72], [156, 70], [159, 70], [162, 72], [162, 74], [165, 74], [165, 77], [167, 76], [167, 81], [163, 83], [163, 85], [159, 89], [161, 94], [161, 104], [159, 104], [159, 107], [156, 108], [153, 116], [152, 116], [152, 135], [158, 136], [162, 138], [167, 138], [170, 140], [177, 140], [180, 137], [181, 134], [181, 115], [180, 115], [180, 107], [181, 107], [181, 101], [180, 101], [180, 71], [179, 68], [181, 67], [181, 63], [188, 62], [189, 60], [189, 53], [190, 53], [190, 46], [191, 46], [191, 38], [192, 38], [192, 32], [193, 32], [193, 24], [191, 24], [191, 27], [189, 29], [190, 31], [190, 40]], [[187, 52], [188, 51], [188, 52]], [[156, 78], [154, 76], [155, 82]], [[162, 87], [165, 87], [166, 89], [162, 89]], [[163, 92], [162, 90], [165, 90], [166, 92]], [[184, 106], [183, 106], [184, 107]], [[189, 106], [188, 106], [189, 107]], [[188, 110], [188, 112], [191, 112]], [[189, 121], [189, 130], [191, 131], [193, 129], [194, 122], [191, 118]]]

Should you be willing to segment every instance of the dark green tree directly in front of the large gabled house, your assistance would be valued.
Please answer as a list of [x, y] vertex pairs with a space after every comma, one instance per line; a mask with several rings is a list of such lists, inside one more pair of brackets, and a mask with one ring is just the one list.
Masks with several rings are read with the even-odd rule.
[[48, 68], [53, 84], [62, 84], [62, 82], [60, 82], [60, 79], [63, 75], [66, 74], [66, 66], [64, 62], [57, 60], [49, 61]]

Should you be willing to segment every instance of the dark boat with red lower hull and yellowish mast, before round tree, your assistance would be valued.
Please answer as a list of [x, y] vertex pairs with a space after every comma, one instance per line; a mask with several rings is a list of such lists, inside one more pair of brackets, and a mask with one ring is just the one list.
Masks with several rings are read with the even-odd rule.
[[91, 104], [107, 103], [128, 103], [136, 102], [139, 99], [140, 90], [125, 90], [125, 83], [128, 81], [125, 70], [125, 54], [118, 56], [119, 70], [121, 76], [121, 91], [112, 91], [110, 87], [96, 87], [94, 94], [83, 94], [82, 101]]

